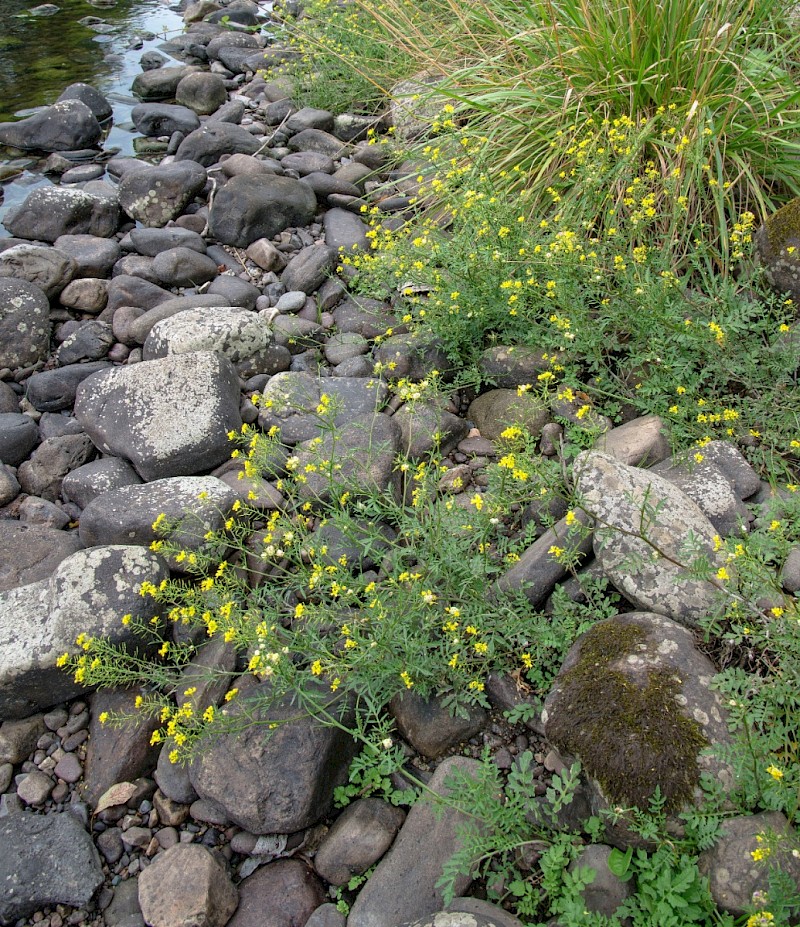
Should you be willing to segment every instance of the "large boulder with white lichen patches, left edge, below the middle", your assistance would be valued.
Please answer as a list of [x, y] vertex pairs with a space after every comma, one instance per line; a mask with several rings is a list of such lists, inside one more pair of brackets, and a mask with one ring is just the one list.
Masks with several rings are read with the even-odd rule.
[[0, 593], [0, 717], [26, 717], [83, 691], [56, 662], [75, 652], [79, 634], [140, 647], [122, 616], [149, 620], [153, 605], [139, 589], [166, 575], [141, 547], [95, 547], [66, 557], [49, 580]]

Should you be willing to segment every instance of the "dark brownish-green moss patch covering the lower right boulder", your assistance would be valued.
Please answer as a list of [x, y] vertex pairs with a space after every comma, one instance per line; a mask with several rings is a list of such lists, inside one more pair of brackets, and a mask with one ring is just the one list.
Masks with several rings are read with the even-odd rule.
[[[681, 680], [674, 672], [614, 668], [646, 637], [619, 619], [588, 631], [577, 663], [559, 678], [547, 736], [580, 758], [612, 803], [646, 808], [659, 786], [672, 812], [693, 797], [697, 755], [707, 740], [680, 710]], [[642, 673], [643, 685], [635, 678]]]

